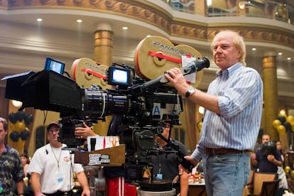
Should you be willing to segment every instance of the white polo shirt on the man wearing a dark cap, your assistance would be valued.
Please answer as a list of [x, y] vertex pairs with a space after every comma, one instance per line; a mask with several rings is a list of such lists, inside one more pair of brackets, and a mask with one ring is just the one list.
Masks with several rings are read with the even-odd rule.
[[[62, 144], [62, 148], [65, 147]], [[34, 153], [28, 173], [40, 174], [40, 185], [43, 193], [67, 192], [75, 186], [73, 173], [84, 170], [81, 164], [74, 163], [74, 154], [62, 148], [53, 148], [50, 143], [38, 148]]]

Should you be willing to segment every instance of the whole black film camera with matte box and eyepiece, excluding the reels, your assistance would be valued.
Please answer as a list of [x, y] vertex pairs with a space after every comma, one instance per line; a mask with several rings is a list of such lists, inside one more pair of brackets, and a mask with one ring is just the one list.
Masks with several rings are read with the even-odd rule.
[[[183, 75], [209, 67], [203, 58], [191, 62], [180, 70]], [[148, 162], [148, 153], [153, 148], [155, 134], [163, 131], [161, 121], [172, 119], [179, 124], [183, 111], [182, 97], [168, 83], [164, 75], [145, 82], [136, 77], [134, 68], [126, 64], [113, 63], [107, 70], [107, 82], [114, 89], [103, 90], [97, 86], [84, 89], [75, 80], [52, 70], [25, 72], [6, 77], [6, 98], [23, 102], [23, 108], [60, 112], [60, 141], [76, 148], [83, 141], [75, 138], [75, 127], [97, 123], [105, 116], [123, 116], [120, 129], [124, 129], [122, 141], [126, 143], [126, 158], [133, 163]], [[171, 144], [175, 151], [179, 151]], [[154, 153], [154, 152], [153, 152]], [[192, 169], [183, 154], [178, 153], [186, 168]]]

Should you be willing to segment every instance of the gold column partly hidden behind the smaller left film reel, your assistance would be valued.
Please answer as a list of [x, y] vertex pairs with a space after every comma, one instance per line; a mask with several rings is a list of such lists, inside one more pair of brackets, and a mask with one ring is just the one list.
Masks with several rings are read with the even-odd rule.
[[[114, 32], [109, 23], [99, 23], [94, 32], [94, 60], [100, 65], [110, 66], [112, 63], [112, 48]], [[94, 125], [94, 132], [99, 136], [107, 136], [109, 123], [112, 116], [106, 116], [106, 121], [98, 121]]]

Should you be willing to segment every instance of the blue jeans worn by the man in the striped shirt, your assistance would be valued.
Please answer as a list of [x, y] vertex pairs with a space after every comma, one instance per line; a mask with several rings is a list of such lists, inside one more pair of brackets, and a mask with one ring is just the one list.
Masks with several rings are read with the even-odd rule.
[[248, 183], [250, 153], [203, 156], [205, 187], [208, 196], [241, 196]]

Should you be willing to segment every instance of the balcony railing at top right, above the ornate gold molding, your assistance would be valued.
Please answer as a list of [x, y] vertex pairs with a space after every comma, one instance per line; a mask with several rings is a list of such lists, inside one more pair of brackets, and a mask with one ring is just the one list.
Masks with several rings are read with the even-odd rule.
[[[294, 6], [275, 0], [203, 0], [204, 6], [196, 0], [162, 0], [172, 9], [207, 17], [246, 16], [270, 18], [294, 24]], [[197, 3], [198, 2], [198, 3]], [[201, 9], [204, 7], [203, 9]]]

